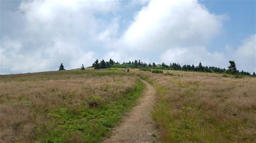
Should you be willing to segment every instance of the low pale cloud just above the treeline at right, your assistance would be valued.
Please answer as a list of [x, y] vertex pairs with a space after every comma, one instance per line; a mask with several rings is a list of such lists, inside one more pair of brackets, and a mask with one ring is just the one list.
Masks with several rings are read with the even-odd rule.
[[227, 68], [229, 66], [228, 61], [234, 60], [239, 70], [252, 73], [256, 71], [256, 35], [250, 35], [242, 41], [242, 45], [237, 48], [228, 46], [226, 52], [214, 52], [212, 54], [207, 52], [204, 47], [193, 49], [176, 47], [163, 52], [160, 60], [166, 63], [179, 62], [182, 65], [197, 65], [201, 61], [203, 65], [222, 68]]

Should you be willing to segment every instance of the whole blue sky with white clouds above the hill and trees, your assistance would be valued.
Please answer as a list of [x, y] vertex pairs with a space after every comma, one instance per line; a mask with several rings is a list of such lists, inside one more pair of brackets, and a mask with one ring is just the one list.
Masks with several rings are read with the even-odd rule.
[[0, 0], [0, 74], [96, 60], [256, 71], [254, 0]]

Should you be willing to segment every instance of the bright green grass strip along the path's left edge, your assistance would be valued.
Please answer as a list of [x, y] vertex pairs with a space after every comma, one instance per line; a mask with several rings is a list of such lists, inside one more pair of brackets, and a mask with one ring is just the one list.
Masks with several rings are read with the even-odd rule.
[[[113, 72], [117, 72], [114, 70]], [[83, 105], [78, 111], [68, 108], [56, 109], [48, 116], [55, 119], [55, 125], [37, 128], [37, 134], [46, 134], [40, 142], [100, 142], [110, 135], [110, 128], [118, 125], [125, 112], [137, 104], [136, 99], [142, 96], [145, 85], [138, 80], [136, 87], [127, 91], [122, 98], [116, 98], [112, 103], [89, 108]]]

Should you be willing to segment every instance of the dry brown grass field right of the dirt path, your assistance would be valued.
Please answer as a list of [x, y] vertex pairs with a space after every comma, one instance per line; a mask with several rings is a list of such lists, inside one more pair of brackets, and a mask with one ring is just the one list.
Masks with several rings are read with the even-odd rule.
[[[256, 141], [256, 78], [165, 71], [135, 71], [158, 89], [152, 115], [163, 141]], [[188, 111], [184, 126], [184, 108]]]

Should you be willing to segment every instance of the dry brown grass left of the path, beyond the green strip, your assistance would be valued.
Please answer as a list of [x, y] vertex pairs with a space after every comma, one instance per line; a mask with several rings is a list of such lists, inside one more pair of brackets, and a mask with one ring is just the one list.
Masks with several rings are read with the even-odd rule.
[[[125, 95], [137, 80], [125, 75], [96, 76], [95, 72], [0, 76], [0, 142], [37, 140], [37, 127], [51, 124], [52, 111], [65, 107], [76, 112], [91, 95], [102, 97], [104, 103], [111, 102], [113, 97]], [[72, 138], [80, 140], [76, 134]]]

